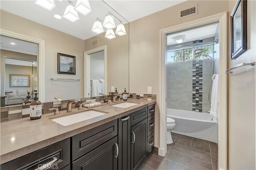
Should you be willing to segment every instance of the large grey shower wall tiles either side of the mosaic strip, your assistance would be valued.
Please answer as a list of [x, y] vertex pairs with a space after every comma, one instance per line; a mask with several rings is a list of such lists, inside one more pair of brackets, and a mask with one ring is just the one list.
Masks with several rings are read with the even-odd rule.
[[[202, 60], [202, 112], [210, 110], [208, 93], [211, 83], [212, 61]], [[167, 108], [192, 111], [192, 61], [167, 63]]]

